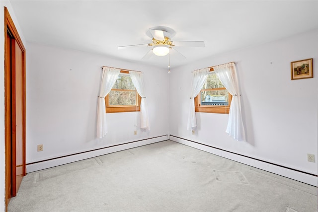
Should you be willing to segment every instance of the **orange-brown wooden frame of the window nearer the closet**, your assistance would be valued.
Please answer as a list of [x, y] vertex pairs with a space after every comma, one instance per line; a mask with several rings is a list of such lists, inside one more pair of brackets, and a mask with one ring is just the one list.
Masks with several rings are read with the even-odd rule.
[[[128, 73], [129, 71], [120, 70], [120, 73]], [[127, 89], [111, 89], [116, 91], [132, 91]], [[109, 93], [105, 96], [106, 113], [123, 113], [123, 112], [138, 112], [140, 111], [141, 96], [136, 89], [136, 105], [109, 105]]]

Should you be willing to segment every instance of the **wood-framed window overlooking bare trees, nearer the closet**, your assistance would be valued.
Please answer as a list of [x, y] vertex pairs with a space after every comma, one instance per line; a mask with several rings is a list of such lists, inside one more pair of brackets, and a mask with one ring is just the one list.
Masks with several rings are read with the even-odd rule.
[[111, 91], [105, 97], [106, 113], [140, 111], [141, 97], [128, 71], [120, 71]]

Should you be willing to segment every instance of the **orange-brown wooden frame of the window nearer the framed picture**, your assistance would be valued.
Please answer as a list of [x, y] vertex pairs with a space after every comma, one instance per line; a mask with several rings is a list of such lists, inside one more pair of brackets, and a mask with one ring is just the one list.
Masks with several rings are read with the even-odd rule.
[[[210, 72], [214, 71], [213, 68], [210, 69]], [[210, 74], [210, 73], [209, 73]], [[201, 105], [201, 91], [212, 91], [212, 90], [227, 90], [224, 88], [211, 88], [211, 89], [201, 89], [199, 94], [194, 98], [194, 108], [195, 112], [199, 113], [220, 113], [220, 114], [229, 114], [230, 106], [232, 102], [232, 95], [228, 91], [229, 94], [229, 105]]]

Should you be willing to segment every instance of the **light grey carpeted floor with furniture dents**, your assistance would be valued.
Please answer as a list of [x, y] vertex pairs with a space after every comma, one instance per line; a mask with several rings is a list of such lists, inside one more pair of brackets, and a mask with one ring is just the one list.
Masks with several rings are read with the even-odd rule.
[[317, 187], [173, 141], [28, 173], [9, 212], [317, 212]]

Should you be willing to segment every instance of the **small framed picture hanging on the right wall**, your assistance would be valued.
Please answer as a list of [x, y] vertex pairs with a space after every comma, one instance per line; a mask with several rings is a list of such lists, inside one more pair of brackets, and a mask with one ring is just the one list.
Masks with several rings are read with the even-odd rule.
[[290, 63], [293, 79], [313, 78], [313, 58]]

